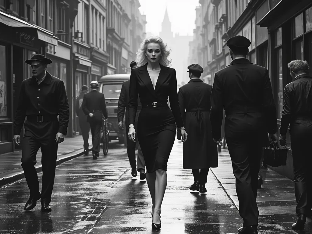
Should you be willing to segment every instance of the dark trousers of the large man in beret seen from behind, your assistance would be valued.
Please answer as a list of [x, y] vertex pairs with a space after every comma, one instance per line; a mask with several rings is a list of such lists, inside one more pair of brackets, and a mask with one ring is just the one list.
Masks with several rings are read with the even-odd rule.
[[265, 119], [261, 113], [226, 116], [225, 137], [236, 178], [239, 214], [244, 227], [258, 224], [256, 197], [262, 147], [268, 140], [265, 131]]

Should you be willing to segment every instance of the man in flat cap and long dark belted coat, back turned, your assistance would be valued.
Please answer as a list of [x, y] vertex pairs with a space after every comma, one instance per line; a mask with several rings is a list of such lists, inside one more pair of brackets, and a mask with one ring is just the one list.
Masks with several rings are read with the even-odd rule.
[[[218, 167], [217, 144], [212, 139], [209, 119], [212, 85], [200, 78], [204, 71], [198, 64], [188, 66], [190, 81], [178, 92], [180, 111], [188, 132], [183, 143], [183, 168], [192, 169], [194, 183], [190, 190], [206, 193], [210, 167]], [[200, 169], [200, 171], [199, 171]]]

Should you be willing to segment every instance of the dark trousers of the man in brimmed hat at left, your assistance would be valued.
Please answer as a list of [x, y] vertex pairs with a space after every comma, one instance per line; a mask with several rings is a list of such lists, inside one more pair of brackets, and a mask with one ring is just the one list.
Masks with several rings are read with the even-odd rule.
[[31, 196], [40, 196], [39, 181], [35, 165], [36, 155], [41, 148], [42, 188], [41, 204], [50, 203], [54, 185], [57, 146], [55, 138], [59, 127], [58, 120], [33, 123], [28, 120], [24, 124], [25, 135], [22, 143], [22, 168]]

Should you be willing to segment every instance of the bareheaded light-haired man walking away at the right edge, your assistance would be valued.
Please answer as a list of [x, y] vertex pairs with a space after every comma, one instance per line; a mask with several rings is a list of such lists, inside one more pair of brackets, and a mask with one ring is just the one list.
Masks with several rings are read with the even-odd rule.
[[306, 61], [293, 60], [288, 64], [292, 82], [284, 88], [284, 106], [280, 119], [280, 144], [286, 145], [290, 124], [290, 143], [294, 164], [297, 222], [294, 230], [303, 230], [305, 217], [312, 211], [312, 78]]

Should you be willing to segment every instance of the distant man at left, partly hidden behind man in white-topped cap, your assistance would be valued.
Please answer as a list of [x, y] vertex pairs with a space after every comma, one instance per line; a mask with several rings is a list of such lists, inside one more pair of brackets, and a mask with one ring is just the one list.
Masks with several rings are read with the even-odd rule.
[[80, 95], [76, 98], [76, 115], [79, 119], [79, 127], [81, 130], [82, 138], [83, 138], [83, 147], [85, 148], [84, 154], [87, 155], [89, 153], [89, 132], [90, 132], [90, 124], [87, 121], [87, 116], [83, 112], [81, 105], [83, 101], [83, 96], [88, 92], [88, 86], [82, 85], [80, 90]]

